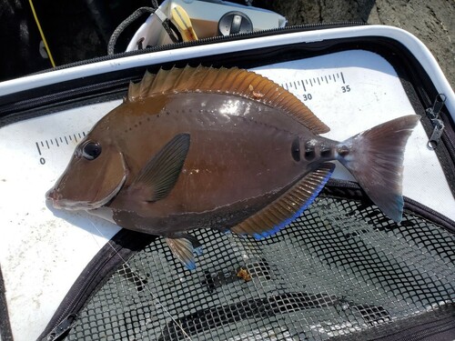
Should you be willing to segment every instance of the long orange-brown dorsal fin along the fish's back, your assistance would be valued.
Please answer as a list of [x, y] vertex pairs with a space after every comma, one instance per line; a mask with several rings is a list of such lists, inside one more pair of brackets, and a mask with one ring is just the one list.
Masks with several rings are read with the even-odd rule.
[[329, 132], [329, 127], [288, 90], [262, 75], [237, 67], [218, 69], [199, 65], [160, 69], [157, 75], [147, 72], [142, 81], [130, 84], [127, 101], [135, 102], [152, 95], [181, 92], [239, 95], [281, 109], [313, 133]]

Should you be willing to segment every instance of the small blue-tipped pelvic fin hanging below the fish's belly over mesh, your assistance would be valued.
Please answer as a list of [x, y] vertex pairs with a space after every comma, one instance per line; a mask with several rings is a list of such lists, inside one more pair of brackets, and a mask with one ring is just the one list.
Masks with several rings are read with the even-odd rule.
[[202, 246], [195, 236], [179, 234], [165, 238], [167, 245], [174, 256], [177, 256], [187, 269], [196, 269], [195, 253], [199, 256], [202, 253]]

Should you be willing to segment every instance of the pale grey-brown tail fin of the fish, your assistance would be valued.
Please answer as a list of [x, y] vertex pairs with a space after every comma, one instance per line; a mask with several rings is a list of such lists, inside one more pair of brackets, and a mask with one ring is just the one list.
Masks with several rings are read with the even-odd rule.
[[373, 203], [399, 223], [403, 214], [404, 149], [419, 115], [377, 125], [339, 144], [339, 162], [348, 168]]

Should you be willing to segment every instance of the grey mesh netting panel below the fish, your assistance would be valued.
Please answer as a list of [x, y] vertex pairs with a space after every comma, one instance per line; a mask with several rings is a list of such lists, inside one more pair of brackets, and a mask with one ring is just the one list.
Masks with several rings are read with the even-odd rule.
[[186, 270], [163, 238], [120, 266], [68, 340], [324, 340], [455, 301], [455, 237], [405, 214], [319, 197], [276, 236], [194, 231]]

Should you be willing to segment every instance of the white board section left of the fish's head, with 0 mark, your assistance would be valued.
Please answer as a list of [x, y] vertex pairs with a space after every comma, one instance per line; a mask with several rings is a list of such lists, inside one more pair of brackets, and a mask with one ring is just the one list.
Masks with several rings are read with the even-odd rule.
[[[118, 103], [0, 128], [0, 266], [15, 341], [41, 334], [77, 276], [119, 230], [84, 214], [55, 211], [55, 216], [45, 205], [45, 192], [65, 170], [78, 133]], [[45, 140], [53, 140], [50, 148], [41, 145]]]

